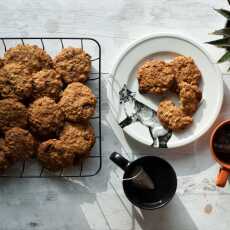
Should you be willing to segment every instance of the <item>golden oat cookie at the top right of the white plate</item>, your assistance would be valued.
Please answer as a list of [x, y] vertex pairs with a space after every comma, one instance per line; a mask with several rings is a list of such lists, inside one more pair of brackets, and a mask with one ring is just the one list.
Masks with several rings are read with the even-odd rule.
[[178, 56], [170, 62], [175, 71], [176, 85], [174, 91], [178, 92], [180, 82], [199, 85], [201, 72], [191, 57]]

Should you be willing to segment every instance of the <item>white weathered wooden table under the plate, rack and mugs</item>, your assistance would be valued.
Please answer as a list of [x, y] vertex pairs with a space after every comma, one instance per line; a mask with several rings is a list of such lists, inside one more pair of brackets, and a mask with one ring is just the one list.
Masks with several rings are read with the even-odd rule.
[[[103, 78], [129, 43], [154, 32], [178, 32], [204, 43], [225, 24], [213, 7], [227, 0], [7, 0], [0, 1], [0, 36], [91, 36], [102, 45]], [[205, 45], [216, 60], [223, 51]], [[221, 66], [225, 73], [226, 66]], [[223, 74], [225, 99], [219, 120], [230, 117], [230, 76]], [[134, 208], [125, 198], [122, 172], [109, 154], [124, 151], [107, 115], [103, 84], [103, 168], [81, 181], [64, 179], [0, 180], [1, 230], [227, 230], [230, 226], [230, 186], [215, 187], [218, 166], [211, 159], [210, 133], [197, 142], [153, 154], [167, 159], [178, 174], [173, 201], [154, 212]], [[110, 123], [110, 124], [109, 124]], [[129, 140], [138, 156], [149, 149]]]

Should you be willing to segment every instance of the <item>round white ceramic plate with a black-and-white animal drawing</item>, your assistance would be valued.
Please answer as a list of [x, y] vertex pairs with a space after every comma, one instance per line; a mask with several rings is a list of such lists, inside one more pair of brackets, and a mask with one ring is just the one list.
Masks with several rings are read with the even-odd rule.
[[[177, 55], [194, 59], [202, 73], [203, 98], [193, 124], [183, 131], [171, 132], [162, 127], [156, 116], [162, 97], [141, 95], [136, 72], [146, 59], [169, 61]], [[212, 126], [221, 109], [223, 80], [219, 68], [203, 47], [183, 36], [158, 34], [135, 42], [120, 56], [112, 76], [109, 96], [118, 122], [124, 132], [146, 145], [174, 148], [191, 143]]]

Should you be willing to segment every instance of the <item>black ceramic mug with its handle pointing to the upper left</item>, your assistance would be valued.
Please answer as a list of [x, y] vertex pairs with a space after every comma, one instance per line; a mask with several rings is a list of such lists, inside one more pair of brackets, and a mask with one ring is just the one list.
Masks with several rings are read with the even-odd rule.
[[[142, 209], [157, 209], [165, 206], [174, 196], [177, 188], [177, 177], [172, 166], [155, 156], [144, 156], [135, 161], [128, 161], [119, 153], [112, 153], [110, 159], [124, 170], [123, 189], [126, 197], [135, 206]], [[136, 186], [133, 172], [142, 168], [151, 178], [154, 188]]]

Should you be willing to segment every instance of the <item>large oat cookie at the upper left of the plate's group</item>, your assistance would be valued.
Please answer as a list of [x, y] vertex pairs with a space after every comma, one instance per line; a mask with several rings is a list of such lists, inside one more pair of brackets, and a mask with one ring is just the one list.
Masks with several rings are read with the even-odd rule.
[[146, 61], [138, 69], [140, 93], [161, 95], [173, 84], [174, 72], [171, 65], [164, 61]]

